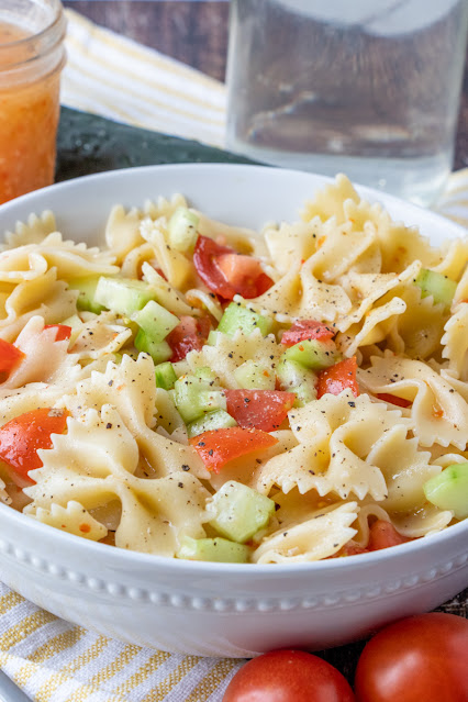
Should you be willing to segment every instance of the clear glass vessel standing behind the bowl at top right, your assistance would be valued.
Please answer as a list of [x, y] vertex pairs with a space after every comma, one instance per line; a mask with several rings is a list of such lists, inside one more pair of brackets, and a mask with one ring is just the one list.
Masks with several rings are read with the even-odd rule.
[[431, 203], [467, 20], [467, 0], [231, 0], [227, 146]]

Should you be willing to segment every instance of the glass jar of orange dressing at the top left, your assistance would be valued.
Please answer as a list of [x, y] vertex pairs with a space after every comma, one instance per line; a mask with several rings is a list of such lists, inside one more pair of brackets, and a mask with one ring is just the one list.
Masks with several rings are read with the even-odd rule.
[[0, 0], [0, 203], [54, 180], [65, 31], [59, 0]]

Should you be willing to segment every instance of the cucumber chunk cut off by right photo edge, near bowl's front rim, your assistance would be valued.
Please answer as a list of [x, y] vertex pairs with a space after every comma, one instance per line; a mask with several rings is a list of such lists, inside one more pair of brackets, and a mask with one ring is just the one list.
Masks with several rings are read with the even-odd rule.
[[457, 520], [468, 516], [468, 461], [447, 466], [424, 483], [427, 500], [441, 510], [452, 510]]

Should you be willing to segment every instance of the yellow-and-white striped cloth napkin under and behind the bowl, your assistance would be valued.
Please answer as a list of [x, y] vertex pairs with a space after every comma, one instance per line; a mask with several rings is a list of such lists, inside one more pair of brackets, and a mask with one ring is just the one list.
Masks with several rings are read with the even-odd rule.
[[[76, 12], [67, 15], [65, 104], [223, 146], [222, 83]], [[468, 169], [453, 174], [436, 209], [468, 226]], [[36, 702], [221, 702], [241, 665], [112, 640], [0, 583], [0, 667]]]

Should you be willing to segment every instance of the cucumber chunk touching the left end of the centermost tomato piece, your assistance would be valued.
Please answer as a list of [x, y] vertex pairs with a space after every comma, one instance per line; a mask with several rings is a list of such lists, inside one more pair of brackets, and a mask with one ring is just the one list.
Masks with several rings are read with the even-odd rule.
[[180, 416], [190, 424], [205, 412], [226, 410], [224, 392], [196, 376], [182, 376], [174, 385], [174, 401]]

